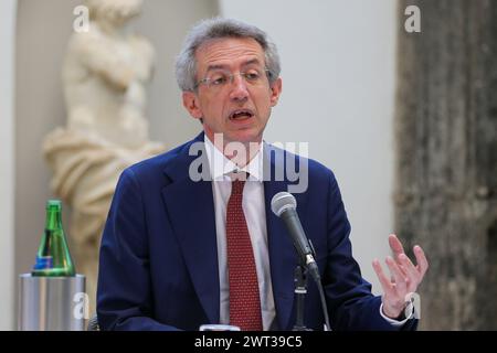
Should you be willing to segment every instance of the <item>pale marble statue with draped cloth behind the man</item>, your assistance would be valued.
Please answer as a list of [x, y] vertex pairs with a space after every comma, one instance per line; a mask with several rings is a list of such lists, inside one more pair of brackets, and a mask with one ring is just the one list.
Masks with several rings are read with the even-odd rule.
[[52, 190], [70, 205], [68, 237], [76, 269], [86, 276], [94, 311], [98, 246], [117, 179], [137, 161], [165, 151], [149, 141], [146, 84], [154, 49], [127, 24], [142, 0], [87, 0], [89, 30], [74, 33], [63, 66], [66, 127], [46, 136]]

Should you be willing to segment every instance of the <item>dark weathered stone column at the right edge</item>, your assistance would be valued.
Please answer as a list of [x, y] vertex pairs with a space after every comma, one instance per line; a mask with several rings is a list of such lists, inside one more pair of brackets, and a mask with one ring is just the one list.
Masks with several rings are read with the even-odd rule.
[[395, 228], [431, 263], [421, 328], [496, 330], [497, 1], [402, 0], [399, 17]]

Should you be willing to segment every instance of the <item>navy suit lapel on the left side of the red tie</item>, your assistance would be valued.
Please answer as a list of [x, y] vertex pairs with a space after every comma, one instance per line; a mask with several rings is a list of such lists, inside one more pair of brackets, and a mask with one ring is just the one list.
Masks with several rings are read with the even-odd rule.
[[[195, 141], [203, 143], [203, 133]], [[210, 322], [218, 323], [220, 285], [212, 184], [189, 178], [189, 167], [198, 158], [188, 154], [189, 146], [165, 170], [172, 182], [162, 190], [162, 199], [199, 300]]]

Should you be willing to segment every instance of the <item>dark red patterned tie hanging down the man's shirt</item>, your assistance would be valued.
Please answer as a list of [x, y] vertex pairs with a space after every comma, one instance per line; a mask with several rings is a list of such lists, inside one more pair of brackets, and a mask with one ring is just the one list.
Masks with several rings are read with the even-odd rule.
[[232, 182], [226, 207], [230, 324], [243, 331], [262, 331], [261, 299], [254, 253], [242, 208], [245, 181]]

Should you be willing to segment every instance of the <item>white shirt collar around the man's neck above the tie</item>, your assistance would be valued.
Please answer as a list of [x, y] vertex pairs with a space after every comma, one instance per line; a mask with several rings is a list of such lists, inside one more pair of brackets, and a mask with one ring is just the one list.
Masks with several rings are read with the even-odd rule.
[[231, 160], [229, 160], [219, 149], [214, 147], [214, 143], [204, 135], [203, 141], [205, 145], [205, 152], [209, 160], [209, 168], [211, 171], [211, 178], [214, 181], [220, 180], [231, 180], [228, 175], [234, 171], [243, 171], [248, 173], [248, 180], [251, 181], [263, 181], [263, 146], [264, 142], [261, 143], [261, 147], [257, 153], [252, 158], [252, 160], [243, 168], [237, 167]]

